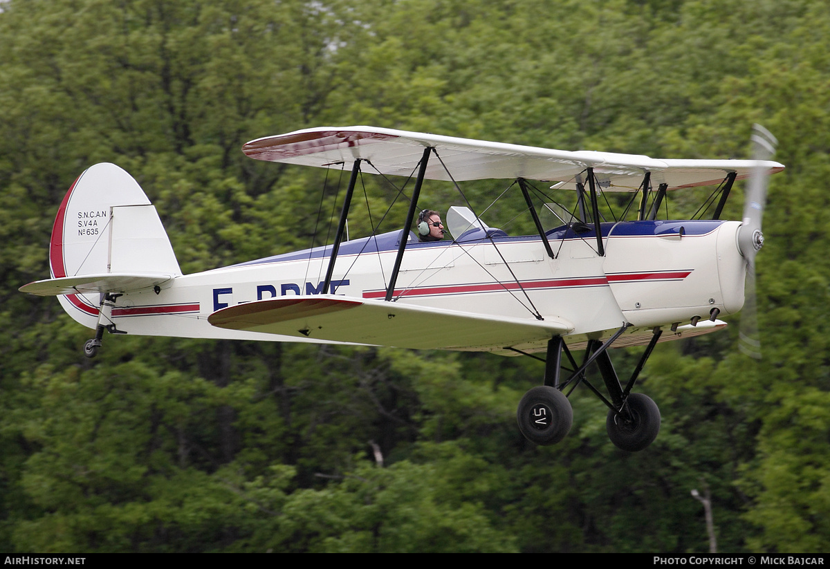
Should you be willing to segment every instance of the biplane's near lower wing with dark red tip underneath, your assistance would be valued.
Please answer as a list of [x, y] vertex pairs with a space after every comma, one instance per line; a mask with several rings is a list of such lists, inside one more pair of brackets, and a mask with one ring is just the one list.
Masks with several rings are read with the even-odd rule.
[[217, 310], [218, 328], [415, 349], [487, 351], [547, 340], [564, 320], [508, 319], [333, 294], [258, 300]]

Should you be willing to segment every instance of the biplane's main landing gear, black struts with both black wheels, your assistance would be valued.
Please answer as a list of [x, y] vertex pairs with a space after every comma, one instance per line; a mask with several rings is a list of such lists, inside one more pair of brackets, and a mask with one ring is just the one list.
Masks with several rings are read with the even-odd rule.
[[[614, 371], [608, 348], [625, 332], [628, 325], [623, 325], [617, 333], [605, 343], [598, 340], [589, 340], [585, 349], [585, 358], [581, 366], [577, 366], [574, 358], [559, 336], [548, 342], [548, 354], [545, 360], [544, 386], [534, 387], [521, 398], [516, 419], [519, 430], [527, 440], [536, 445], [554, 445], [568, 434], [573, 421], [574, 413], [570, 401], [563, 390], [573, 383], [568, 395], [574, 391], [579, 383], [584, 383], [588, 389], [598, 396], [600, 401], [608, 406], [606, 429], [608, 438], [622, 450], [636, 452], [643, 450], [657, 438], [660, 432], [660, 411], [657, 405], [648, 396], [642, 393], [631, 393], [634, 383], [637, 382], [642, 367], [645, 365], [652, 350], [657, 345], [662, 330], [655, 328], [652, 339], [646, 351], [642, 354], [632, 372], [631, 378], [623, 388], [617, 372]], [[568, 357], [574, 370], [567, 380], [559, 383], [559, 373], [562, 362], [562, 353]], [[608, 390], [610, 401], [585, 379], [585, 369], [593, 362], [597, 362], [599, 372]]]

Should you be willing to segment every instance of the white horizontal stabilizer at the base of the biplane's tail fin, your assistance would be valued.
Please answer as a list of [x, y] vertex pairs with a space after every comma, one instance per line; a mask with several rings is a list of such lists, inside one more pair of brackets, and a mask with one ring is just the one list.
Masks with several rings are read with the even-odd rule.
[[173, 275], [161, 273], [130, 275], [127, 273], [102, 273], [100, 275], [66, 276], [60, 279], [36, 280], [20, 287], [23, 293], [39, 296], [83, 293], [124, 293], [161, 286]]

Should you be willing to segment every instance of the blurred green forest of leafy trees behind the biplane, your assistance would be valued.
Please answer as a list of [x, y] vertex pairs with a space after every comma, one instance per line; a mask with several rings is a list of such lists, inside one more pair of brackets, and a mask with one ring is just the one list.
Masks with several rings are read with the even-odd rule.
[[[0, 3], [0, 551], [706, 552], [706, 488], [720, 552], [830, 551], [828, 38], [825, 0]], [[564, 442], [525, 442], [530, 358], [109, 336], [88, 360], [90, 330], [17, 292], [93, 163], [139, 181], [187, 273], [310, 245], [323, 173], [245, 158], [261, 136], [746, 158], [754, 122], [787, 166], [764, 359], [735, 326], [660, 345], [636, 454], [580, 391]]]

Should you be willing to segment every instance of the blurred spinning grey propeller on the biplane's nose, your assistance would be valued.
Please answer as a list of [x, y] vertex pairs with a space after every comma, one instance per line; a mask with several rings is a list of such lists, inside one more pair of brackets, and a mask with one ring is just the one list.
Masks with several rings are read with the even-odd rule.
[[758, 300], [755, 292], [755, 255], [764, 246], [764, 234], [761, 232], [761, 221], [764, 218], [764, 205], [767, 199], [767, 185], [769, 176], [766, 172], [764, 160], [769, 160], [775, 153], [778, 145], [769, 130], [760, 124], [752, 128], [752, 159], [755, 161], [749, 183], [746, 185], [744, 199], [744, 217], [738, 230], [738, 248], [746, 260], [746, 286], [743, 314], [740, 317], [740, 333], [738, 348], [740, 351], [754, 357], [761, 358], [759, 331], [758, 331]]

